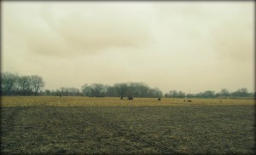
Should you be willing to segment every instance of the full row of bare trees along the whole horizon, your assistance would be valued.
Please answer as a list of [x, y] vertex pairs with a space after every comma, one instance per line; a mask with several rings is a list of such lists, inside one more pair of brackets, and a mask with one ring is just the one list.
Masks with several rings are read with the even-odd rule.
[[1, 95], [63, 95], [89, 97], [166, 97], [166, 98], [218, 98], [218, 97], [255, 97], [255, 92], [247, 88], [230, 92], [221, 89], [219, 92], [205, 90], [197, 94], [186, 94], [183, 91], [170, 90], [163, 94], [158, 88], [150, 88], [146, 83], [85, 83], [81, 89], [61, 87], [61, 89], [43, 90], [45, 82], [38, 75], [19, 76], [11, 72], [1, 73]]

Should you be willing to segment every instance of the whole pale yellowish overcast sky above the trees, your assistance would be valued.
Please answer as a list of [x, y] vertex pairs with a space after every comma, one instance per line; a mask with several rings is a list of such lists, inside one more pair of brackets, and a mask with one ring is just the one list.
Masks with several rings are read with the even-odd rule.
[[2, 2], [2, 72], [45, 89], [254, 89], [254, 2]]

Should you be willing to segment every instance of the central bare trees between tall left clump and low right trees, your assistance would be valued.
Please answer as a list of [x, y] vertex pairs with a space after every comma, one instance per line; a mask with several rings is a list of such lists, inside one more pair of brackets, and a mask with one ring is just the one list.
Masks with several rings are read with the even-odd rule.
[[115, 83], [113, 86], [102, 83], [85, 83], [81, 91], [75, 88], [64, 88], [44, 91], [44, 95], [81, 95], [89, 97], [161, 97], [158, 88], [150, 88], [145, 83]]

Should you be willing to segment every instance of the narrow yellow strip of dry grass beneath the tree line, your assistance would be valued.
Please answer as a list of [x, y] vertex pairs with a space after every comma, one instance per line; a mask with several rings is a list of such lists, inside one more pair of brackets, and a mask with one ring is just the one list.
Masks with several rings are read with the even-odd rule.
[[116, 97], [58, 97], [58, 96], [3, 96], [2, 106], [234, 106], [254, 105], [255, 100], [241, 99], [184, 99], [135, 98], [134, 100], [119, 100]]

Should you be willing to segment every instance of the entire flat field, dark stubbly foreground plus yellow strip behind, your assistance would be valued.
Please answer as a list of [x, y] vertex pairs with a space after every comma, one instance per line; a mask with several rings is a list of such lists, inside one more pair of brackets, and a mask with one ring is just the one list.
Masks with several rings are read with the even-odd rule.
[[255, 100], [2, 97], [1, 152], [255, 154]]

